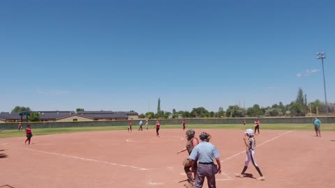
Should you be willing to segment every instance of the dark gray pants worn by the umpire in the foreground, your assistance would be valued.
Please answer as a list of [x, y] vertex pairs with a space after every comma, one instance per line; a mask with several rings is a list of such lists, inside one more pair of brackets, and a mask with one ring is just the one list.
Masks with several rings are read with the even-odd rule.
[[197, 175], [195, 175], [195, 188], [201, 188], [204, 184], [204, 178], [207, 178], [209, 188], [216, 188], [215, 174], [218, 169], [215, 164], [199, 164]]

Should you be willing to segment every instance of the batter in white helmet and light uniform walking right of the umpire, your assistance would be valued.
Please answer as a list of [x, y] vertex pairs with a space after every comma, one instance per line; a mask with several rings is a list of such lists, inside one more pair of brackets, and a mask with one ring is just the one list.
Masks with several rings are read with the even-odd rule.
[[260, 171], [260, 168], [257, 166], [256, 161], [255, 161], [255, 139], [253, 138], [253, 130], [248, 129], [245, 132], [245, 137], [244, 139], [244, 144], [246, 145], [246, 162], [244, 163], [244, 169], [241, 173], [236, 173], [236, 177], [243, 178], [245, 176], [246, 169], [248, 169], [248, 164], [250, 161], [253, 162], [253, 166], [255, 166], [256, 170], [258, 173], [260, 173], [260, 178], [256, 178], [256, 180], [265, 180], [264, 175]]

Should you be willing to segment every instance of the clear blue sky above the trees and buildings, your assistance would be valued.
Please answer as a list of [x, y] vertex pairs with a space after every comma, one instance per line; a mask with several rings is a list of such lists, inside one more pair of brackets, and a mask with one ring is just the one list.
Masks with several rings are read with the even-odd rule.
[[0, 1], [0, 111], [335, 102], [334, 1]]

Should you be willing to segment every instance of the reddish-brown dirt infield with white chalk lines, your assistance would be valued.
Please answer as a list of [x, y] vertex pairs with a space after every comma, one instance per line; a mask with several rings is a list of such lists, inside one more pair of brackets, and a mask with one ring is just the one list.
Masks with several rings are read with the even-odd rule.
[[[265, 181], [250, 165], [249, 178], [235, 178], [244, 166], [243, 130], [206, 131], [221, 153], [217, 187], [335, 187], [335, 133], [261, 130], [255, 159]], [[187, 152], [182, 130], [83, 132], [0, 139], [0, 187], [184, 187], [181, 162]], [[205, 181], [204, 187], [207, 187]]]

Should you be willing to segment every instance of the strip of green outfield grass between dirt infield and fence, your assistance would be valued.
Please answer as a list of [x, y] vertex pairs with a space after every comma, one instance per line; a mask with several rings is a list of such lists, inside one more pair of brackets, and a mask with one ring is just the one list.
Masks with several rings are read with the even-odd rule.
[[[238, 125], [238, 124], [207, 124], [207, 125], [186, 125], [186, 129], [230, 129], [230, 130], [245, 130], [248, 128], [253, 129], [253, 125]], [[138, 130], [138, 125], [133, 125], [133, 131]], [[143, 125], [143, 130], [144, 130]], [[127, 130], [128, 126], [109, 126], [109, 127], [66, 127], [66, 128], [45, 128], [34, 129], [34, 135], [44, 134], [61, 134], [70, 132], [89, 132], [89, 131], [111, 131], [111, 130]], [[151, 130], [156, 128], [156, 125], [149, 125]], [[161, 129], [181, 129], [181, 125], [161, 125]], [[260, 130], [301, 130], [301, 131], [314, 131], [314, 126], [308, 124], [261, 124]], [[335, 123], [327, 123], [321, 125], [322, 131], [335, 131]], [[0, 138], [20, 137], [25, 136], [24, 130], [3, 130], [0, 133]]]

